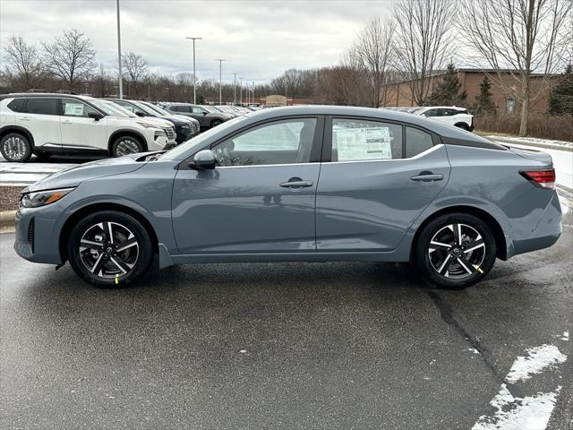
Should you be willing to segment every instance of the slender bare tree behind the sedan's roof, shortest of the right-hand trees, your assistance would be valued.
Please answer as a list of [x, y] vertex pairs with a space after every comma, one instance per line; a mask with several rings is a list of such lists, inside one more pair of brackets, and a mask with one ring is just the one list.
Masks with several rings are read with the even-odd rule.
[[392, 61], [394, 29], [388, 19], [373, 18], [360, 32], [352, 48], [357, 65], [364, 72], [370, 87], [370, 105], [381, 107], [386, 104], [387, 72]]

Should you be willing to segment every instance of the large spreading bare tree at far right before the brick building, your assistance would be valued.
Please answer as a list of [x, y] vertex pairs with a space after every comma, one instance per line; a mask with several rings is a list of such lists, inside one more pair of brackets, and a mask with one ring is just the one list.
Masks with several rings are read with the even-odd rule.
[[555, 73], [571, 55], [572, 4], [571, 0], [463, 0], [460, 7], [459, 30], [479, 54], [478, 63], [494, 69], [489, 73], [492, 82], [521, 103], [520, 136], [527, 133], [531, 101], [551, 84], [544, 80], [532, 89], [532, 73]]

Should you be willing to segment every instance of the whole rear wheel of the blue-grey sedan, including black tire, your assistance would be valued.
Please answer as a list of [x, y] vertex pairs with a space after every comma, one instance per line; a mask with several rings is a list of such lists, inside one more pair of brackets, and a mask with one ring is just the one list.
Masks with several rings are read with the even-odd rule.
[[495, 236], [492, 229], [474, 215], [460, 212], [442, 215], [423, 228], [415, 243], [414, 257], [418, 271], [438, 287], [471, 287], [492, 270], [496, 258]]

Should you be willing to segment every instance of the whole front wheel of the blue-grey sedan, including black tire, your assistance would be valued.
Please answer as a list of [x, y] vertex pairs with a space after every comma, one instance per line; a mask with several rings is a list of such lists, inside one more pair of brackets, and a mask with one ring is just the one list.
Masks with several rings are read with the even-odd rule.
[[[107, 233], [110, 226], [113, 241]], [[82, 239], [90, 244], [81, 246]], [[129, 246], [121, 250], [122, 244]], [[98, 211], [81, 219], [70, 234], [67, 250], [73, 271], [98, 288], [130, 284], [149, 271], [153, 261], [148, 231], [131, 215], [117, 211]]]

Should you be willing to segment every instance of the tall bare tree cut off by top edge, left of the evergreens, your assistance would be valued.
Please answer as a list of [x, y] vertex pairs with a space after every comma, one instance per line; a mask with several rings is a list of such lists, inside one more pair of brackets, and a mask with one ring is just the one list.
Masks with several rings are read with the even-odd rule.
[[451, 0], [398, 0], [396, 4], [397, 65], [419, 106], [432, 92], [432, 75], [451, 56], [455, 7]]

